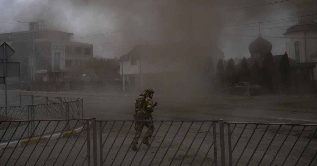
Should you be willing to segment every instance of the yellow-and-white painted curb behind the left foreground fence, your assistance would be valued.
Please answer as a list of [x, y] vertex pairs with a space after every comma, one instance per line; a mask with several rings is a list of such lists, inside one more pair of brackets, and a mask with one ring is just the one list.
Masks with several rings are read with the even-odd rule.
[[[10, 147], [15, 147], [15, 146], [24, 146], [24, 145], [31, 145], [31, 144], [37, 144], [37, 142], [39, 143], [45, 143], [49, 140], [52, 139], [56, 139], [58, 137], [64, 137], [64, 136], [68, 136], [68, 135], [76, 135], [77, 133], [79, 133], [81, 131], [81, 128], [77, 128], [74, 129], [73, 131], [66, 131], [63, 133], [57, 133], [57, 134], [53, 134], [52, 137], [50, 135], [47, 136], [43, 136], [43, 137], [37, 137], [37, 138], [31, 138], [31, 139], [24, 139], [24, 140], [20, 140], [19, 141], [12, 141], [8, 143], [1, 143], [0, 144], [0, 150], [6, 149], [6, 148], [10, 148]], [[84, 126], [84, 130], [87, 129], [87, 125]], [[51, 139], [49, 139], [49, 137], [51, 137]], [[29, 141], [29, 143], [28, 143]]]

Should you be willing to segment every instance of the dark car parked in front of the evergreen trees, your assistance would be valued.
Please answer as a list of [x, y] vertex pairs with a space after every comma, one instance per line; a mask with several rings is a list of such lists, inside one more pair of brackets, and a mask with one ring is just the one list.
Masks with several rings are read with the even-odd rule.
[[225, 94], [256, 94], [259, 93], [261, 85], [257, 85], [253, 82], [238, 82], [231, 86], [223, 88]]

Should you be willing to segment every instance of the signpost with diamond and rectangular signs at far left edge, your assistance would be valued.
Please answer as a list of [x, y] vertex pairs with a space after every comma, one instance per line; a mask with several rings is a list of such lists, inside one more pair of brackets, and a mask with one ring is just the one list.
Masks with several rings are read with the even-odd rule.
[[[4, 84], [4, 100], [5, 107], [7, 107], [7, 76], [20, 75], [20, 63], [7, 63], [7, 60], [15, 53], [15, 51], [4, 42], [0, 46], [0, 58], [3, 61], [0, 63], [0, 84]], [[2, 70], [3, 69], [3, 70]], [[7, 109], [5, 109], [7, 114]]]

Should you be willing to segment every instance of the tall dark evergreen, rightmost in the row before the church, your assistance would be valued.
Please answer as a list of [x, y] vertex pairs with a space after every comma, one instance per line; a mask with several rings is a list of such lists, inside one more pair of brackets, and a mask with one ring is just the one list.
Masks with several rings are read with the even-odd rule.
[[280, 89], [288, 92], [291, 83], [291, 68], [289, 66], [288, 55], [285, 53], [280, 61]]

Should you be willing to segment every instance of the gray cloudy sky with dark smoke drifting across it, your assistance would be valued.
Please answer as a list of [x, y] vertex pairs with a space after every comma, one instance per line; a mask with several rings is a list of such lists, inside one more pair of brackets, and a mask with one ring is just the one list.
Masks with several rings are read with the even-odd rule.
[[[294, 18], [297, 0], [0, 2], [0, 33], [28, 30], [28, 24], [17, 21], [46, 20], [48, 29], [73, 33], [72, 41], [94, 44], [94, 56], [105, 58], [120, 57], [139, 43], [182, 41], [189, 34], [188, 27], [192, 27], [195, 36], [212, 38], [225, 59], [249, 58], [249, 43], [259, 34], [257, 22], [262, 22], [261, 34], [272, 43], [273, 55], [284, 54], [282, 34], [298, 20]], [[301, 2], [312, 2], [308, 6], [317, 7], [315, 0]]]

